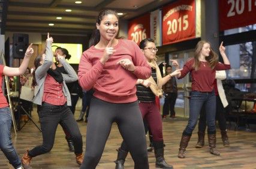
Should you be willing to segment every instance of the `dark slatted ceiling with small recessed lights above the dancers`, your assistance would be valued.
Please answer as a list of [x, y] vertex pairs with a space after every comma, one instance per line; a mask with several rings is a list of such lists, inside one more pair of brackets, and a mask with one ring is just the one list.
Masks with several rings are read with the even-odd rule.
[[80, 1], [81, 4], [76, 4], [75, 0], [9, 0], [5, 31], [85, 35], [95, 28], [95, 19], [101, 10], [116, 10], [124, 13], [122, 20], [129, 20], [173, 0]]

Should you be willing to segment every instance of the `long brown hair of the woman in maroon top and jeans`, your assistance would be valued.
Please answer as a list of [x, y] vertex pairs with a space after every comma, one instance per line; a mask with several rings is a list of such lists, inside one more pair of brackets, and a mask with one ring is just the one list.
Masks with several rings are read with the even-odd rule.
[[[205, 40], [201, 40], [198, 41], [197, 46], [195, 46], [195, 55], [194, 55], [194, 64], [193, 64], [193, 68], [195, 69], [195, 71], [197, 71], [200, 67], [200, 61], [199, 61], [199, 57], [200, 57], [200, 53], [201, 50], [203, 48], [203, 45], [205, 43], [210, 44], [209, 41], [205, 41]], [[210, 64], [210, 68], [215, 68], [216, 64], [219, 61], [219, 56], [212, 50], [212, 47], [210, 47], [210, 55], [208, 57], [206, 57], [206, 61]]]

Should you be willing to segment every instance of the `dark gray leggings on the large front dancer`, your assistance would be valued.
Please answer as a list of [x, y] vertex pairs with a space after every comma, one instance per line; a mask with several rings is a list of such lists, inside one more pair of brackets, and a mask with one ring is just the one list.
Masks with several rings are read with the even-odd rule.
[[134, 160], [134, 168], [149, 168], [145, 131], [138, 102], [115, 104], [95, 97], [91, 100], [85, 158], [80, 168], [96, 168], [113, 122], [118, 124], [119, 132], [127, 143]]

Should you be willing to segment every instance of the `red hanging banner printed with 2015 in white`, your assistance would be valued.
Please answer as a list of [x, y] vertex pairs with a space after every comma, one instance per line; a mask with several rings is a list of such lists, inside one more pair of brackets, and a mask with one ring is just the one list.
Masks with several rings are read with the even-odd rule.
[[181, 0], [162, 8], [162, 44], [195, 38], [195, 1]]

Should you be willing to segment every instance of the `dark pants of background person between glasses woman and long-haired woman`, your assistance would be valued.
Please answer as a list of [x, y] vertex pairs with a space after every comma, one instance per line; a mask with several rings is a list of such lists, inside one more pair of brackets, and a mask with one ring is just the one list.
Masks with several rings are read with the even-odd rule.
[[176, 103], [178, 93], [168, 92], [165, 93], [164, 106], [162, 107], [162, 115], [166, 116], [170, 112], [170, 116], [175, 116], [174, 106]]

